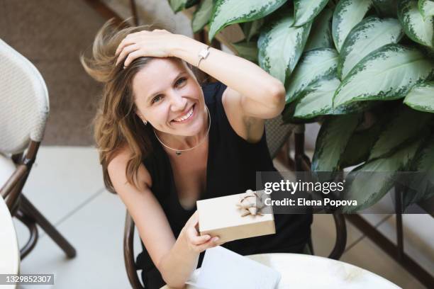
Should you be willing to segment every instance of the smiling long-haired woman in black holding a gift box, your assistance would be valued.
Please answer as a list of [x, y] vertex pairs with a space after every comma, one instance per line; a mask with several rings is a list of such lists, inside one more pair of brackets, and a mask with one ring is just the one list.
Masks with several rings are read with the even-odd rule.
[[[241, 57], [146, 29], [106, 23], [81, 58], [104, 84], [94, 136], [106, 186], [138, 228], [145, 288], [182, 287], [220, 244], [243, 255], [304, 251], [310, 212], [276, 215], [276, 234], [225, 244], [196, 230], [196, 200], [255, 189], [256, 171], [276, 171], [264, 123], [284, 108], [283, 84]], [[199, 64], [218, 82], [199, 84]]]

